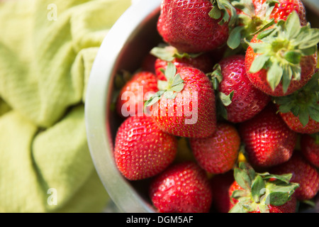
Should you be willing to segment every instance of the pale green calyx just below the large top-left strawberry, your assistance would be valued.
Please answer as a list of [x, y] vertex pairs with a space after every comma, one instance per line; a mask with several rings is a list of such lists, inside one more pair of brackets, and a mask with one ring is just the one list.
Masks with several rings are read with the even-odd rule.
[[152, 50], [150, 50], [150, 54], [161, 60], [172, 62], [176, 58], [196, 58], [202, 53], [179, 52], [177, 48], [174, 48], [172, 45], [160, 44], [157, 47], [152, 48]]

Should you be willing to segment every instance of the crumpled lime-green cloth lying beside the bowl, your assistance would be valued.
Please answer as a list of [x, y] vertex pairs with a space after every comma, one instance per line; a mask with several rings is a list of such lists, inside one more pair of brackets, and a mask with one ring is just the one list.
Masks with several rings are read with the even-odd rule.
[[101, 212], [86, 140], [91, 65], [129, 0], [0, 3], [0, 212]]

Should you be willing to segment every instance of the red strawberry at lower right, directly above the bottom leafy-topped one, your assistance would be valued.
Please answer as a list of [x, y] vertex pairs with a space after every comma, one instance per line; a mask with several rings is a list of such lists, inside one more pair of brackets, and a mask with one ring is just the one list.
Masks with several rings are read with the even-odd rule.
[[291, 182], [300, 184], [296, 198], [300, 201], [313, 199], [319, 191], [319, 172], [296, 150], [288, 162], [272, 168], [275, 174], [292, 173]]

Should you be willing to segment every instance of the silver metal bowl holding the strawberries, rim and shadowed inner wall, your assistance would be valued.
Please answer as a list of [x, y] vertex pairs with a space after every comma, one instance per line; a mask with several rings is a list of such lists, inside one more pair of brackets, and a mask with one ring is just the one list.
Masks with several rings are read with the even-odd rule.
[[[315, 1], [310, 13], [318, 13], [318, 16], [319, 2]], [[130, 72], [137, 70], [142, 58], [162, 40], [156, 30], [161, 2], [141, 0], [123, 13], [101, 44], [86, 91], [85, 121], [89, 150], [101, 182], [120, 212], [155, 212], [147, 196], [148, 180], [130, 182], [116, 167], [113, 143], [123, 119], [110, 111], [110, 106], [116, 73], [123, 69]], [[310, 0], [307, 6], [310, 6]]]

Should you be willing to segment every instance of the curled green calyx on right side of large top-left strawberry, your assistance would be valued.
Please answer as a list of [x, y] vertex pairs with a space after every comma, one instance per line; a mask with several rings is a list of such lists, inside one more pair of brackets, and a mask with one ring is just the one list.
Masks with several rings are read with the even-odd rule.
[[[223, 25], [223, 23], [228, 23], [228, 27], [230, 28], [235, 25], [237, 12], [229, 0], [211, 0], [211, 4], [213, 4], [213, 8], [208, 13], [211, 18], [216, 20], [221, 18], [219, 24]], [[230, 13], [228, 11], [230, 11]]]

